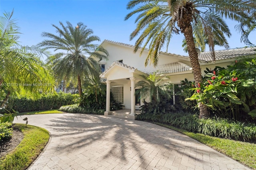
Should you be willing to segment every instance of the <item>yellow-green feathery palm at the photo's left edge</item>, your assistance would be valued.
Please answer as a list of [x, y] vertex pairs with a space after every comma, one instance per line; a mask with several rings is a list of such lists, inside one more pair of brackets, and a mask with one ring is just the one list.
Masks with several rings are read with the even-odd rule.
[[[48, 53], [39, 47], [18, 44], [19, 27], [13, 15], [0, 16], [0, 106], [9, 95], [26, 94], [37, 97], [54, 90], [54, 78], [40, 57]], [[4, 95], [5, 94], [5, 95]]]

